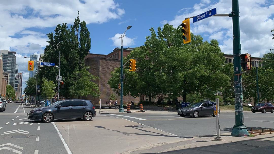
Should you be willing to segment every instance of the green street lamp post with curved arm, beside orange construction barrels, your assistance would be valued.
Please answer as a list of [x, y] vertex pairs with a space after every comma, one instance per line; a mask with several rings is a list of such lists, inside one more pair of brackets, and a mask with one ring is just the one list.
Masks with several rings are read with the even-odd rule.
[[[129, 30], [131, 28], [131, 26], [128, 26], [127, 29], [125, 30], [125, 32], [127, 30]], [[125, 33], [119, 37], [121, 38], [121, 73], [120, 73], [120, 82], [121, 82], [121, 90], [120, 90], [120, 109], [119, 112], [125, 112], [124, 111], [124, 105], [123, 105], [123, 80], [124, 80], [124, 74], [123, 74], [123, 39], [124, 39]]]

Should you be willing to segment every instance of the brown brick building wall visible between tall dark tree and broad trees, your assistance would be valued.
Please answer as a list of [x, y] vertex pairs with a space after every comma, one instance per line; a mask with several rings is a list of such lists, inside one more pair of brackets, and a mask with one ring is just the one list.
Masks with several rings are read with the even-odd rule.
[[[127, 56], [134, 48], [123, 48], [123, 56]], [[115, 68], [120, 67], [121, 48], [115, 48], [107, 55], [105, 54], [88, 54], [85, 57], [85, 64], [90, 66], [89, 72], [99, 77], [95, 83], [99, 86], [100, 97], [93, 98], [90, 95], [85, 99], [91, 100], [94, 104], [98, 104], [101, 99], [101, 103], [105, 104], [109, 101], [110, 94], [115, 94], [118, 104], [120, 103], [120, 96], [113, 91], [107, 84], [111, 75], [110, 72]], [[118, 85], [117, 85], [118, 86]], [[139, 97], [133, 98], [131, 96], [124, 96], [124, 103], [139, 103]], [[114, 101], [112, 101], [114, 103]]]

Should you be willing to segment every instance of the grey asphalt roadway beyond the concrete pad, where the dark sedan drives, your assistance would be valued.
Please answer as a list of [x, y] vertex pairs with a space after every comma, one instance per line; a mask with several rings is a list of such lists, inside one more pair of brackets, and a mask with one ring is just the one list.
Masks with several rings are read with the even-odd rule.
[[[216, 134], [216, 118], [205, 117], [181, 117], [176, 113], [124, 113], [105, 114], [107, 116], [124, 118], [146, 126], [154, 127], [165, 132], [181, 137], [195, 137]], [[127, 116], [127, 117], [124, 117]], [[244, 124], [248, 129], [252, 128], [274, 128], [274, 114], [244, 113]], [[230, 133], [235, 125], [235, 113], [221, 113], [221, 133]]]

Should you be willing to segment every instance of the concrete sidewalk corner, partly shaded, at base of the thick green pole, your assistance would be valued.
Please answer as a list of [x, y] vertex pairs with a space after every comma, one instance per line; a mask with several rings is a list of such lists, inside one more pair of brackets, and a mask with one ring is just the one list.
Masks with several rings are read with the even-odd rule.
[[140, 147], [122, 154], [272, 154], [274, 151], [274, 134], [247, 138], [223, 135], [223, 141], [214, 141], [214, 138], [215, 136], [199, 136], [192, 140], [152, 148]]

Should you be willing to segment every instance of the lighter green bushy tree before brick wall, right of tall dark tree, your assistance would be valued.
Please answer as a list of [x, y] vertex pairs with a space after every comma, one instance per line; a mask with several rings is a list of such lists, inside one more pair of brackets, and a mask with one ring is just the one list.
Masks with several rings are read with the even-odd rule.
[[92, 95], [92, 97], [99, 97], [98, 85], [93, 82], [98, 80], [98, 77], [93, 76], [87, 71], [90, 67], [85, 66], [80, 71], [77, 71], [78, 79], [75, 84], [69, 88], [70, 94], [80, 98], [80, 96]]

